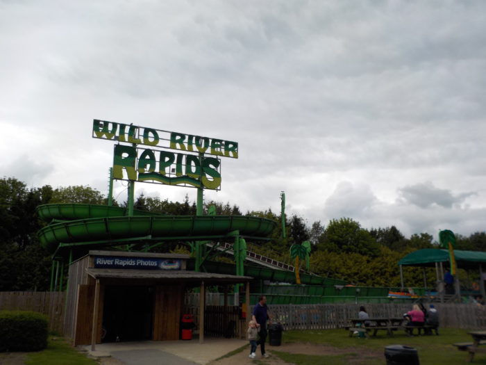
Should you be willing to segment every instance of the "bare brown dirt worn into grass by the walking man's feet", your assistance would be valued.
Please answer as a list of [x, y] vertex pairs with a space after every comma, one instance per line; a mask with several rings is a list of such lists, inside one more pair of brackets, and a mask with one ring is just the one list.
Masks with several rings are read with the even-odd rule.
[[[268, 346], [267, 352], [271, 355], [271, 350], [274, 349], [279, 352], [289, 352], [291, 354], [304, 354], [304, 355], [351, 355], [356, 354], [355, 358], [351, 356], [348, 359], [349, 364], [360, 364], [363, 359], [383, 359], [382, 352], [376, 352], [371, 350], [358, 350], [355, 348], [334, 348], [332, 346], [317, 345], [315, 343], [284, 343], [282, 346]], [[249, 351], [244, 350], [231, 357], [220, 359], [217, 362], [211, 362], [209, 365], [285, 365], [286, 362], [278, 359], [278, 357], [271, 356], [267, 359], [262, 358], [258, 353], [255, 359], [249, 359]], [[256, 360], [256, 361], [255, 361]]]

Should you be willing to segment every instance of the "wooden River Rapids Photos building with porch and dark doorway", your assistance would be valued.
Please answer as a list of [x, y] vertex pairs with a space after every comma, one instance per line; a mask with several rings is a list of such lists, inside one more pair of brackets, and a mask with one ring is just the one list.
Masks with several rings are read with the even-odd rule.
[[[103, 341], [177, 340], [186, 289], [246, 283], [251, 277], [186, 270], [185, 254], [90, 251], [69, 266], [65, 336], [74, 346]], [[204, 297], [200, 295], [199, 341]]]

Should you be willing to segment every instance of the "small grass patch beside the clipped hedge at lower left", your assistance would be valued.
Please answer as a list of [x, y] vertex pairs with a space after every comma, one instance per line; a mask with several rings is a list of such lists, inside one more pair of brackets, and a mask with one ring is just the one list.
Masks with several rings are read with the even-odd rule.
[[99, 365], [76, 351], [60, 337], [49, 338], [47, 348], [38, 352], [28, 352], [26, 365]]

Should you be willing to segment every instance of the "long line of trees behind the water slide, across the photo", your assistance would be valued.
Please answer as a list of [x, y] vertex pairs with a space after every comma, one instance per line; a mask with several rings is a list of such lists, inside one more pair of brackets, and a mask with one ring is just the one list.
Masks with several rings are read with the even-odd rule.
[[[0, 291], [49, 289], [51, 256], [37, 240], [37, 231], [45, 223], [37, 217], [35, 208], [55, 203], [107, 204], [107, 198], [90, 186], [28, 188], [15, 177], [0, 179]], [[126, 206], [126, 202], [114, 204]], [[196, 203], [190, 202], [187, 195], [183, 202], [171, 202], [141, 194], [134, 205], [135, 209], [153, 213], [196, 214]], [[206, 213], [210, 206], [218, 215], [258, 216], [278, 222], [268, 241], [249, 242], [249, 250], [290, 262], [290, 246], [310, 241], [310, 271], [355, 285], [399, 286], [399, 259], [414, 250], [438, 247], [426, 232], [407, 238], [395, 226], [365, 229], [346, 217], [330, 220], [327, 225], [320, 221], [308, 225], [305, 218], [292, 215], [285, 219], [283, 238], [280, 213], [271, 209], [242, 213], [237, 204], [208, 201], [204, 205]], [[486, 250], [485, 232], [456, 235], [456, 241], [459, 250]], [[158, 250], [187, 252], [183, 242], [161, 245]], [[231, 262], [228, 257], [219, 259]], [[421, 270], [405, 268], [404, 276], [407, 286], [424, 286]], [[433, 286], [435, 271], [427, 269], [426, 277]]]

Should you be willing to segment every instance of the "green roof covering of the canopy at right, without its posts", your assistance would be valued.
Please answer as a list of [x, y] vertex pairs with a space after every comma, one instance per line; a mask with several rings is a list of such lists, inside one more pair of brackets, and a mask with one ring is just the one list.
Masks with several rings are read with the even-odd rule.
[[[486, 263], [486, 252], [454, 250], [458, 268], [478, 268], [480, 263]], [[425, 248], [406, 255], [399, 261], [405, 266], [435, 266], [436, 262], [449, 262], [449, 250], [440, 248]]]

